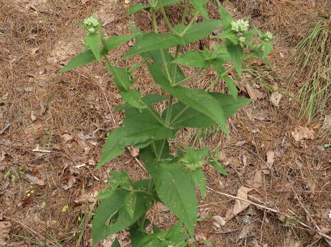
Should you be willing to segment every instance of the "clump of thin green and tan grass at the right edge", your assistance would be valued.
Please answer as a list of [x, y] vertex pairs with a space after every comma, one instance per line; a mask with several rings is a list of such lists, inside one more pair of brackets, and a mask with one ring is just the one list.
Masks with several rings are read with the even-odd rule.
[[[302, 86], [297, 94], [299, 115], [308, 122], [330, 102], [331, 89], [331, 17], [317, 22], [298, 43], [292, 56]], [[292, 80], [290, 80], [293, 83]]]

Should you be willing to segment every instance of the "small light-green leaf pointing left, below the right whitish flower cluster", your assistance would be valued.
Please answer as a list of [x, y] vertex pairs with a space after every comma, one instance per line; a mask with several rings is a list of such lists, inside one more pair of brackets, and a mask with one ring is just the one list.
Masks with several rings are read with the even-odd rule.
[[201, 51], [188, 51], [172, 62], [191, 67], [209, 67], [209, 61], [204, 58], [204, 54]]

